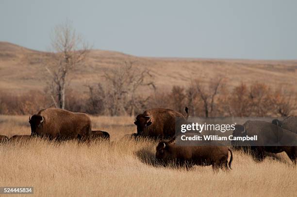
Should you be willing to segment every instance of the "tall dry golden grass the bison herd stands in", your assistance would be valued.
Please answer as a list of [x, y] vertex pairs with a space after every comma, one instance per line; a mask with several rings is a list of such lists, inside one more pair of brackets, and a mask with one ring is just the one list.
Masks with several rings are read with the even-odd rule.
[[[0, 115], [0, 134], [30, 133], [27, 119]], [[0, 185], [33, 186], [36, 196], [296, 196], [297, 170], [285, 154], [281, 161], [255, 163], [235, 151], [231, 172], [154, 166], [156, 143], [121, 140], [135, 131], [127, 124], [132, 117], [92, 121], [112, 143], [32, 139], [0, 145]]]

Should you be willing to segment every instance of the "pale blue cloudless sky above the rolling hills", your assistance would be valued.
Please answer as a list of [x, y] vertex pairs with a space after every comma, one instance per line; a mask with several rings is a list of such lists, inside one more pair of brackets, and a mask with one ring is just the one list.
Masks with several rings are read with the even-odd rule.
[[0, 0], [0, 41], [47, 50], [67, 19], [94, 49], [297, 59], [297, 0]]

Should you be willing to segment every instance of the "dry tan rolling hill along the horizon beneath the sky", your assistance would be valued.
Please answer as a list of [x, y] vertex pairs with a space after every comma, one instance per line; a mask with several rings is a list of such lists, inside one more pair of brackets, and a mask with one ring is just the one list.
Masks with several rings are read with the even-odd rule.
[[[42, 90], [46, 85], [45, 60], [48, 52], [26, 49], [0, 42], [0, 90], [23, 93]], [[240, 60], [197, 58], [136, 57], [115, 51], [92, 49], [85, 66], [74, 71], [70, 87], [84, 90], [86, 84], [104, 83], [102, 74], [124, 61], [133, 61], [139, 69], [148, 68], [160, 90], [187, 85], [200, 78], [205, 83], [217, 75], [225, 76], [232, 87], [240, 82], [264, 82], [271, 86], [297, 82], [297, 60]]]

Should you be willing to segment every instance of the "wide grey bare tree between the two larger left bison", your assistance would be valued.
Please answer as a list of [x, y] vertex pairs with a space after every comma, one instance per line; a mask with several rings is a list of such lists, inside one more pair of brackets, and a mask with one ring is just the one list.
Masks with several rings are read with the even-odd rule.
[[140, 87], [148, 86], [155, 89], [149, 70], [140, 69], [134, 62], [125, 61], [124, 65], [105, 72], [104, 78], [109, 86], [106, 90], [107, 105], [111, 106], [111, 115], [134, 115], [148, 97], [141, 97], [136, 92]]

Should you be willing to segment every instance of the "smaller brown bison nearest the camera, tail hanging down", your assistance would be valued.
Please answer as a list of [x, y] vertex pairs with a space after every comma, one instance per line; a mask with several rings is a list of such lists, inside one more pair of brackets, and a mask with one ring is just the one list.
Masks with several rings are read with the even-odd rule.
[[[228, 154], [231, 154], [228, 164]], [[176, 162], [178, 165], [212, 165], [213, 169], [231, 169], [232, 150], [228, 147], [213, 146], [177, 146], [169, 142], [159, 142], [156, 148], [156, 160], [164, 164]]]

